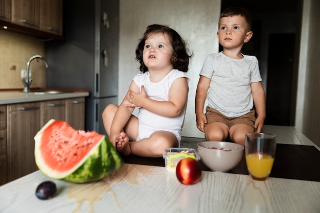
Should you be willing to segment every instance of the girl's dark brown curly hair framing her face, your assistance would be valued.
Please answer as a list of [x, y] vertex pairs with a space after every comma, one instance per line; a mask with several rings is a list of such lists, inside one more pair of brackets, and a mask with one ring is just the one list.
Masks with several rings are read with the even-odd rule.
[[173, 55], [171, 56], [171, 64], [174, 69], [178, 69], [182, 72], [188, 72], [189, 69], [189, 58], [192, 54], [188, 54], [187, 44], [184, 39], [173, 29], [163, 25], [149, 25], [143, 38], [140, 39], [138, 46], [135, 49], [135, 59], [140, 63], [140, 71], [145, 73], [148, 71], [148, 67], [143, 63], [143, 50], [146, 39], [150, 34], [163, 33], [167, 34], [171, 38], [171, 44], [173, 48]]

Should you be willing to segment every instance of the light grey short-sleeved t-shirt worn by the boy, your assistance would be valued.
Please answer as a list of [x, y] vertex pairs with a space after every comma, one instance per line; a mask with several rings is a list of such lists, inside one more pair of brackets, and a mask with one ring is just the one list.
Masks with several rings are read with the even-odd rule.
[[208, 104], [228, 117], [239, 117], [253, 108], [251, 82], [262, 81], [258, 60], [255, 56], [243, 55], [233, 59], [222, 52], [205, 58], [201, 76], [211, 79]]

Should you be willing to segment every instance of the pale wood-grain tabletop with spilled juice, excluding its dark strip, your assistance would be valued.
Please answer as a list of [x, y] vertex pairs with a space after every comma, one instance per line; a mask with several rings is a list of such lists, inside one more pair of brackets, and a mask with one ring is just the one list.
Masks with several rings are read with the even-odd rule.
[[[266, 130], [276, 131], [280, 143], [314, 146], [294, 127]], [[124, 164], [92, 183], [53, 180], [56, 197], [39, 200], [36, 187], [46, 180], [53, 179], [36, 171], [0, 186], [0, 212], [320, 212], [316, 181], [272, 177], [254, 181], [248, 175], [202, 171], [198, 183], [183, 185], [164, 167]]]

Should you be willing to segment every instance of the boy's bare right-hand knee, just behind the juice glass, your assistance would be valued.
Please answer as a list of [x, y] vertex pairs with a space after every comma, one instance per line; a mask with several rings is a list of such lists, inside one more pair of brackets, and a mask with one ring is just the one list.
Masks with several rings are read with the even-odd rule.
[[230, 138], [237, 144], [244, 146], [245, 134], [254, 132], [255, 129], [247, 124], [236, 124], [230, 128]]

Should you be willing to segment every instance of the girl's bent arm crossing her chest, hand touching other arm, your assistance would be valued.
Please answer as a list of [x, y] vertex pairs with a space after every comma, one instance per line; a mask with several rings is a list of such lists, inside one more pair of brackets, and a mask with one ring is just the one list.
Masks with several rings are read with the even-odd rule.
[[169, 101], [155, 101], [147, 97], [144, 86], [142, 86], [141, 92], [129, 91], [126, 106], [143, 107], [164, 117], [176, 117], [181, 114], [186, 105], [188, 91], [187, 78], [181, 77], [173, 81], [169, 91]]

